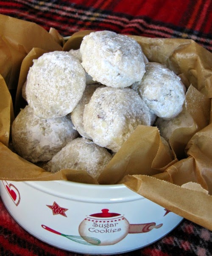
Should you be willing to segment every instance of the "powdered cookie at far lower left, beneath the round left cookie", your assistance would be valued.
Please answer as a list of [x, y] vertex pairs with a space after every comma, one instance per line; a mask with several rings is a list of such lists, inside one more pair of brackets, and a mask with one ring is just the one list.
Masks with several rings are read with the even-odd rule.
[[48, 161], [77, 136], [70, 118], [39, 118], [29, 105], [20, 111], [12, 124], [14, 149], [31, 162]]

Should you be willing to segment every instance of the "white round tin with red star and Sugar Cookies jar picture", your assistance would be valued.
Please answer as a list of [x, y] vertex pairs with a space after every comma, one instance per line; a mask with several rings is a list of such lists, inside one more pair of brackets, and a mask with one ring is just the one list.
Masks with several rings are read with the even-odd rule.
[[183, 219], [125, 185], [3, 180], [0, 193], [25, 230], [76, 253], [136, 250], [161, 239]]

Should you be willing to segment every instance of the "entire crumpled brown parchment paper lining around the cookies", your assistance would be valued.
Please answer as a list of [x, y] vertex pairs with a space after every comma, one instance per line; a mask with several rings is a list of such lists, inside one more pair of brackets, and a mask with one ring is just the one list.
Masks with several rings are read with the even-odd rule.
[[[9, 89], [17, 90], [15, 113], [25, 104], [22, 85], [33, 58], [45, 51], [78, 49], [84, 35], [78, 32], [64, 44], [56, 31], [47, 33], [34, 23], [0, 15], [0, 179], [72, 180], [94, 183], [84, 171], [61, 170], [50, 174], [8, 147], [13, 107]], [[42, 35], [42, 36], [41, 36]], [[150, 61], [167, 65], [186, 85], [186, 108], [193, 118], [190, 129], [172, 134], [171, 156], [156, 127], [139, 125], [103, 171], [100, 184], [124, 183], [132, 190], [167, 209], [212, 230], [212, 196], [181, 188], [196, 182], [212, 193], [212, 54], [192, 40], [152, 39], [132, 36]], [[198, 108], [195, 106], [198, 100]], [[177, 139], [181, 135], [181, 141]], [[185, 142], [186, 138], [186, 142]], [[184, 151], [185, 158], [180, 159]], [[180, 155], [180, 156], [179, 156]]]

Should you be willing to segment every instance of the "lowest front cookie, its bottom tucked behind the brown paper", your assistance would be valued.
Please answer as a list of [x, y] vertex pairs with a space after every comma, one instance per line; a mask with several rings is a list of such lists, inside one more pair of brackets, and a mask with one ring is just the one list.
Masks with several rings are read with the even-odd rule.
[[84, 170], [97, 179], [111, 159], [112, 155], [106, 148], [81, 137], [65, 145], [49, 163], [53, 173], [61, 169]]

